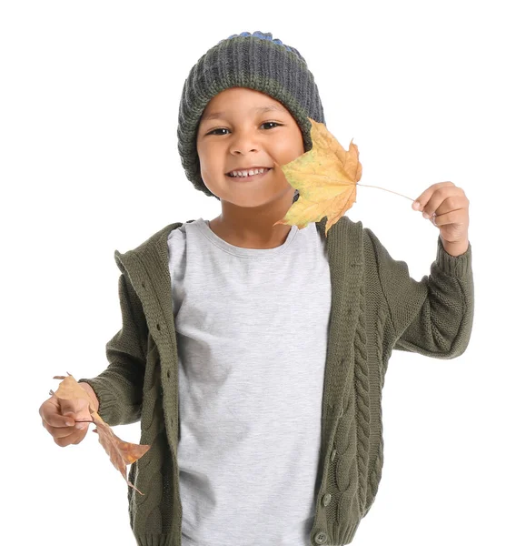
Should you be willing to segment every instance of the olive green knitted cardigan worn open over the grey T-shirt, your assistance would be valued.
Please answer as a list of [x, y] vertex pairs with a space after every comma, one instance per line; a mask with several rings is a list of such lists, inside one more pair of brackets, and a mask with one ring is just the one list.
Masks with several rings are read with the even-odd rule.
[[[321, 234], [325, 224], [326, 218], [316, 223]], [[124, 254], [114, 251], [122, 272], [122, 329], [106, 344], [107, 369], [79, 379], [94, 389], [109, 425], [141, 420], [140, 443], [152, 446], [128, 476], [144, 492], [128, 487], [130, 524], [140, 546], [181, 544], [178, 360], [167, 238], [182, 225], [170, 224]], [[328, 232], [327, 249], [332, 310], [313, 546], [349, 544], [372, 506], [382, 477], [382, 387], [392, 349], [453, 359], [467, 348], [473, 321], [471, 245], [453, 257], [438, 238], [430, 275], [420, 281], [361, 221], [342, 217]]]

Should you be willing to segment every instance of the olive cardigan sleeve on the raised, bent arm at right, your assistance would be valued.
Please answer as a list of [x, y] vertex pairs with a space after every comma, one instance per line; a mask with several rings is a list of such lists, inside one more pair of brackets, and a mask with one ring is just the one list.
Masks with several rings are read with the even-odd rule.
[[437, 359], [461, 356], [468, 347], [474, 314], [471, 243], [452, 256], [437, 241], [430, 275], [419, 282], [409, 275], [406, 262], [395, 260], [371, 229], [383, 298], [389, 309], [393, 349]]

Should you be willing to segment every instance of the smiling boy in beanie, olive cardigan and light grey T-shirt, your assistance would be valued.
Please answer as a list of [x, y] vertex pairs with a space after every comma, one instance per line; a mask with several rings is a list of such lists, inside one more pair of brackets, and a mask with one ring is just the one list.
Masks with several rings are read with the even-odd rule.
[[[193, 66], [178, 146], [221, 214], [114, 252], [123, 326], [109, 366], [79, 379], [109, 425], [141, 420], [129, 471], [141, 546], [349, 544], [382, 475], [392, 349], [452, 359], [473, 319], [469, 201], [452, 182], [418, 198], [440, 229], [430, 277], [410, 278], [362, 222], [273, 223], [296, 195], [273, 168], [312, 147], [323, 106], [303, 57], [271, 34], [232, 35]], [[309, 295], [309, 298], [306, 297]], [[84, 439], [40, 413], [56, 443]], [[180, 494], [181, 492], [181, 494]]]

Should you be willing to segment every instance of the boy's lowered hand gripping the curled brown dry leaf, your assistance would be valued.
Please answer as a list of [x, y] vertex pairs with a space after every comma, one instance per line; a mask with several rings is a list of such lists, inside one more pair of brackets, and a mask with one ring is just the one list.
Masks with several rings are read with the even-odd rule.
[[[75, 423], [75, 420], [92, 421], [86, 399], [58, 399], [54, 394], [39, 408], [43, 426], [58, 446], [64, 448], [84, 440], [89, 423]], [[70, 422], [71, 425], [66, 423]]]

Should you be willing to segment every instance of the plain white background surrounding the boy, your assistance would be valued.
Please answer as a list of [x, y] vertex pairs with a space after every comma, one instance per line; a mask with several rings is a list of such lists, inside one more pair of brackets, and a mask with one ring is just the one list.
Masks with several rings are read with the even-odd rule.
[[[363, 184], [415, 198], [450, 180], [471, 201], [470, 345], [452, 360], [392, 354], [382, 482], [353, 545], [516, 543], [511, 2], [174, 4], [0, 7], [4, 538], [135, 543], [126, 484], [92, 427], [60, 448], [38, 409], [55, 375], [107, 364], [121, 326], [114, 249], [220, 213], [184, 176], [179, 98], [208, 48], [261, 30], [307, 60], [328, 129], [359, 148]], [[438, 229], [411, 201], [359, 187], [347, 214], [412, 278], [429, 273]], [[139, 441], [139, 423], [114, 432]]]

